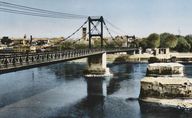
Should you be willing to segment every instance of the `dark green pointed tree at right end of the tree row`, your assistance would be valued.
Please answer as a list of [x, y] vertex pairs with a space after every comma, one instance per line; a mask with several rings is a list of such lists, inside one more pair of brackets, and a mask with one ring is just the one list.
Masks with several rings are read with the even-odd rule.
[[178, 36], [178, 43], [175, 49], [178, 52], [189, 52], [191, 45], [185, 40], [184, 37]]

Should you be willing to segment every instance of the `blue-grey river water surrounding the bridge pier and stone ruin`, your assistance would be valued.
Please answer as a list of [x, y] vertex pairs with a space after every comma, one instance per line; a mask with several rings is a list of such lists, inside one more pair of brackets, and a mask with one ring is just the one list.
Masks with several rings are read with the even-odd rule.
[[[109, 64], [107, 96], [87, 96], [85, 63], [60, 63], [0, 75], [0, 118], [191, 118], [188, 111], [143, 107], [135, 99], [147, 64]], [[185, 65], [192, 77], [192, 65]]]

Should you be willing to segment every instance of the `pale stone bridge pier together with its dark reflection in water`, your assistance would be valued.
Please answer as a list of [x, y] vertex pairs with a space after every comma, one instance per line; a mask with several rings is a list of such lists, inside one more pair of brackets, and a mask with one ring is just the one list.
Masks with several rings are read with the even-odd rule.
[[112, 74], [107, 68], [106, 52], [87, 59], [88, 68], [85, 72], [85, 79], [87, 81], [88, 96], [106, 96], [107, 95], [107, 80]]

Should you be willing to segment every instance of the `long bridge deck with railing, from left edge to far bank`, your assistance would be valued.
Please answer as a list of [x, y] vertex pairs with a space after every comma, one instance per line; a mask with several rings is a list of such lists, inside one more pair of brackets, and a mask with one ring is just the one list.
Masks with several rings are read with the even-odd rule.
[[0, 57], [0, 74], [46, 66], [81, 58], [93, 57], [103, 53], [127, 52], [134, 53], [137, 48], [115, 49], [75, 49], [41, 53], [13, 53]]

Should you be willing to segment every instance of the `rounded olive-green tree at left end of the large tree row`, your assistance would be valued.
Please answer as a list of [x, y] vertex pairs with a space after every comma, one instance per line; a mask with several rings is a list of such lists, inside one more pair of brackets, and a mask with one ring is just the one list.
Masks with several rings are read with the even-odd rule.
[[160, 46], [160, 36], [156, 33], [150, 34], [147, 37], [148, 48], [158, 48]]

